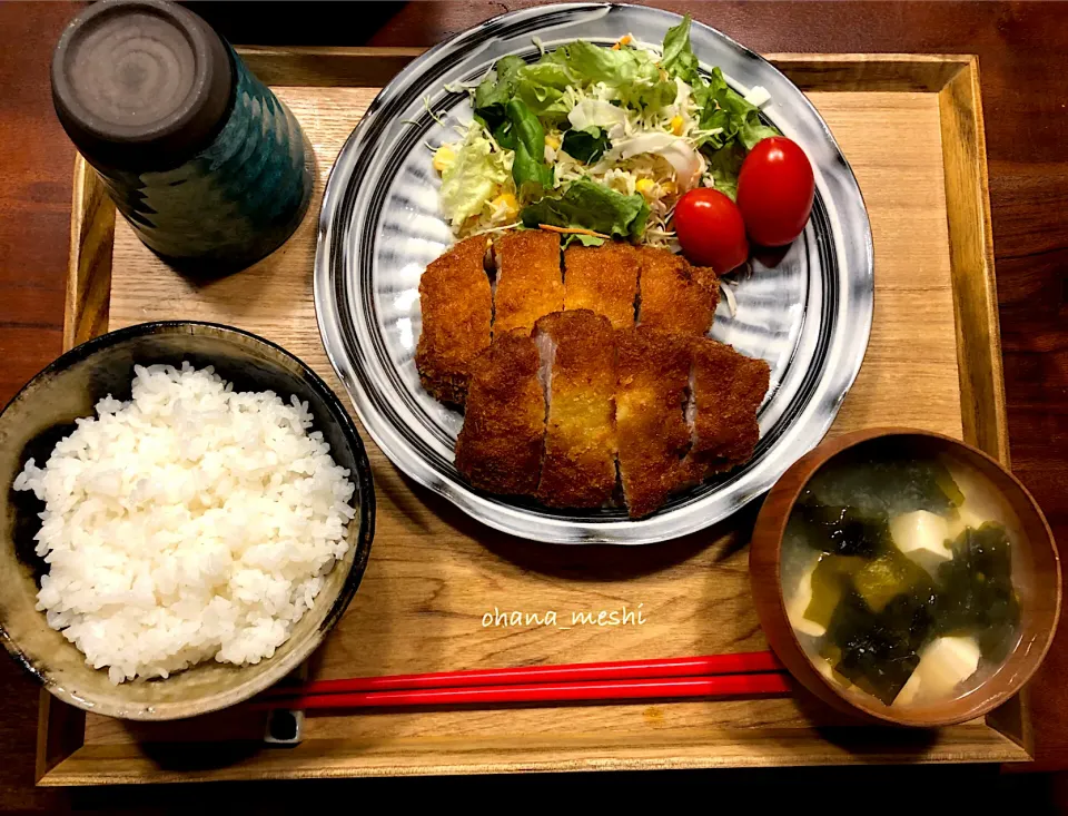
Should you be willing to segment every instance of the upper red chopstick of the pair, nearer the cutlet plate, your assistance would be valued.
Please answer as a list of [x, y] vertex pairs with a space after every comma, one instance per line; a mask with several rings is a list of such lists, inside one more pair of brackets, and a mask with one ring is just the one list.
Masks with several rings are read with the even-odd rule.
[[600, 663], [562, 666], [526, 666], [512, 669], [467, 669], [425, 675], [354, 677], [344, 680], [317, 680], [299, 686], [275, 686], [258, 700], [308, 695], [336, 695], [354, 691], [407, 691], [434, 688], [469, 688], [478, 686], [515, 686], [609, 680], [642, 680], [668, 677], [709, 675], [752, 675], [782, 671], [782, 663], [770, 651], [734, 655], [705, 655], [653, 660], [620, 660]]

